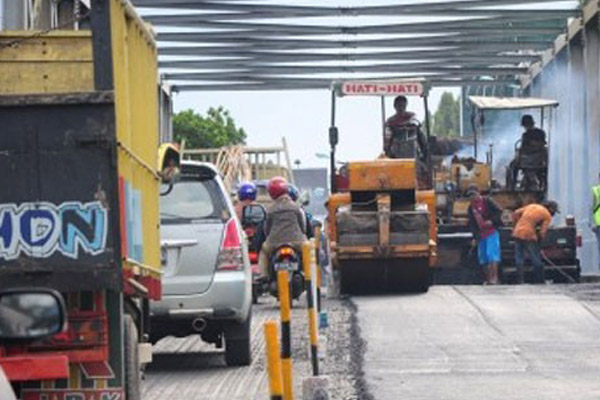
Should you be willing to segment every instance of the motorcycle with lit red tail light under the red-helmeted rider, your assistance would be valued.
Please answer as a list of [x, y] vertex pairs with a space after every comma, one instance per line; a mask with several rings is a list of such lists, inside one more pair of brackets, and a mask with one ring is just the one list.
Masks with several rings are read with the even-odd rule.
[[278, 297], [277, 272], [287, 271], [289, 279], [290, 306], [304, 292], [304, 272], [302, 269], [302, 256], [292, 245], [279, 246], [271, 255], [269, 263], [270, 293]]

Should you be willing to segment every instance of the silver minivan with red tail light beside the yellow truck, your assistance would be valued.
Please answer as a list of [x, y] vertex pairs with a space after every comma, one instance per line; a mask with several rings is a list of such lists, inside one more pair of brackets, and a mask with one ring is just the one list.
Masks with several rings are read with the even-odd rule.
[[219, 172], [183, 161], [160, 204], [162, 300], [151, 304], [151, 341], [198, 334], [249, 365], [252, 276], [245, 235]]

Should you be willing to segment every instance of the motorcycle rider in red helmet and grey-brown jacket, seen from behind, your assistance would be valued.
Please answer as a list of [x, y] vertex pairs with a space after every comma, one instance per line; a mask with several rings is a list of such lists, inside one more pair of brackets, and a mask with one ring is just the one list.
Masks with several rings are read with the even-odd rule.
[[306, 240], [306, 217], [289, 195], [285, 178], [274, 177], [267, 186], [273, 203], [267, 207], [266, 239], [259, 255], [261, 273], [269, 276], [269, 258], [279, 246], [291, 244], [298, 251]]

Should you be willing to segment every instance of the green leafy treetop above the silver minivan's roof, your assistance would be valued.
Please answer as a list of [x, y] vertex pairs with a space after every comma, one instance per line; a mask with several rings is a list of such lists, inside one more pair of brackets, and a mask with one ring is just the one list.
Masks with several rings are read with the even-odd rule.
[[188, 148], [216, 148], [246, 143], [246, 132], [238, 128], [229, 111], [223, 107], [209, 108], [205, 116], [193, 110], [173, 116], [175, 141], [185, 139]]

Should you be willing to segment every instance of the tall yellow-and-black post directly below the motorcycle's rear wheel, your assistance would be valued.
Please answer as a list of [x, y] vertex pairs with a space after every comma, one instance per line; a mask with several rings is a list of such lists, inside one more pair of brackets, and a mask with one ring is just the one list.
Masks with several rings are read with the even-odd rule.
[[279, 291], [279, 310], [281, 313], [281, 372], [283, 375], [283, 398], [285, 400], [294, 400], [289, 285], [288, 272], [277, 271], [277, 289]]

